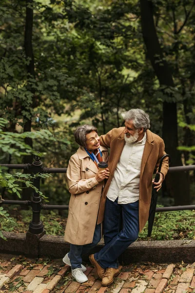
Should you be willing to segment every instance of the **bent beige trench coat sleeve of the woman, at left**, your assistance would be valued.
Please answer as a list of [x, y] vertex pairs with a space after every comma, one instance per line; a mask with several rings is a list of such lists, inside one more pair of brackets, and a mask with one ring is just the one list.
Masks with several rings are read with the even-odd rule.
[[68, 163], [66, 175], [68, 179], [68, 188], [71, 194], [85, 192], [99, 184], [95, 177], [81, 179], [81, 165], [79, 161], [80, 160], [73, 155]]

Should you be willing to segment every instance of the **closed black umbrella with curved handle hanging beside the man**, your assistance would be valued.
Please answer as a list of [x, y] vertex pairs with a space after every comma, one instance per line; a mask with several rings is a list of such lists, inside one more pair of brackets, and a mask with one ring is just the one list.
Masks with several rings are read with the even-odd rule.
[[[155, 176], [155, 182], [158, 182], [160, 179], [160, 170], [162, 167], [162, 162], [165, 157], [169, 157], [169, 163], [170, 163], [170, 155], [166, 154], [166, 155], [162, 156], [162, 158], [160, 159], [158, 172], [156, 173], [156, 176]], [[149, 237], [148, 243], [149, 243], [150, 236], [151, 236], [152, 229], [153, 229], [153, 224], [154, 224], [154, 220], [155, 220], [155, 212], [156, 212], [156, 203], [157, 203], [157, 191], [156, 191], [156, 188], [154, 188], [154, 187], [155, 187], [155, 184], [153, 184], [152, 198], [151, 198], [149, 218], [148, 218], [148, 237]]]

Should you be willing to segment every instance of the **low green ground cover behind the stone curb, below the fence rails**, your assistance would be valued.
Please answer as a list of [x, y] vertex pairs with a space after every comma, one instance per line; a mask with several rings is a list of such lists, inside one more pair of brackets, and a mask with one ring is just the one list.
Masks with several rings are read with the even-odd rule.
[[[20, 210], [17, 207], [8, 210], [10, 220], [0, 218], [1, 230], [26, 232], [32, 221], [32, 211]], [[47, 234], [63, 235], [67, 218], [59, 216], [56, 211], [41, 211], [41, 221]], [[139, 234], [138, 241], [147, 240], [148, 225]], [[158, 212], [155, 216], [151, 240], [195, 239], [195, 210]]]

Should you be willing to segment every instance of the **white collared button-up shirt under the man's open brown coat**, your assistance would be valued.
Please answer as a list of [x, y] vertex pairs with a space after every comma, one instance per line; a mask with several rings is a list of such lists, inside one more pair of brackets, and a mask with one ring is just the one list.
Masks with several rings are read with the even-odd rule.
[[146, 133], [136, 143], [125, 143], [107, 193], [111, 201], [118, 197], [118, 204], [129, 204], [139, 199], [140, 167], [145, 143]]

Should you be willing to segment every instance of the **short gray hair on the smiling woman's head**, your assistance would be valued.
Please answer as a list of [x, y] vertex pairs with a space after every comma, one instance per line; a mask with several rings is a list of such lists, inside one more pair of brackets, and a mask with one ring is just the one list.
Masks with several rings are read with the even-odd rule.
[[92, 125], [82, 125], [78, 126], [77, 129], [74, 132], [75, 136], [75, 141], [78, 143], [79, 146], [86, 147], [85, 142], [86, 142], [86, 134], [96, 131], [98, 133], [98, 129], [95, 126]]

